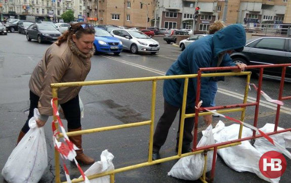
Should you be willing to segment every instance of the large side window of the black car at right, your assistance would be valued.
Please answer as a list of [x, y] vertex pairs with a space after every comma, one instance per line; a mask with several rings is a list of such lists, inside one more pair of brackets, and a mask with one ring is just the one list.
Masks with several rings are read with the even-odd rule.
[[262, 39], [255, 48], [284, 51], [285, 39], [265, 38]]

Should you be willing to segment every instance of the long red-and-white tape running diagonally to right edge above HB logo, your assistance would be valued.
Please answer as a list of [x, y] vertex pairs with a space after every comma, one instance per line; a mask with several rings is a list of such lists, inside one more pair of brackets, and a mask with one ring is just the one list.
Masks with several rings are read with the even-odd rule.
[[284, 155], [286, 155], [289, 159], [291, 159], [291, 153], [290, 153], [288, 150], [286, 150], [284, 147], [282, 147], [282, 145], [280, 145], [278, 142], [276, 142], [275, 140], [273, 140], [269, 135], [267, 135], [266, 133], [264, 133], [264, 132], [262, 132], [261, 130], [259, 130], [257, 127], [254, 127], [254, 126], [252, 126], [252, 125], [250, 125], [250, 124], [247, 124], [247, 123], [245, 123], [245, 122], [239, 121], [239, 120], [237, 120], [237, 119], [231, 118], [231, 117], [229, 117], [229, 116], [222, 115], [222, 114], [220, 114], [220, 113], [217, 113], [216, 111], [209, 110], [209, 109], [206, 109], [206, 108], [204, 108], [204, 107], [201, 107], [201, 104], [202, 104], [202, 100], [198, 103], [198, 106], [195, 106], [195, 108], [197, 108], [197, 109], [198, 109], [198, 108], [201, 108], [201, 109], [203, 109], [203, 110], [205, 110], [205, 111], [211, 112], [211, 113], [213, 113], [213, 114], [215, 114], [215, 115], [221, 116], [221, 117], [226, 118], [226, 119], [228, 119], [228, 120], [231, 120], [231, 121], [237, 122], [237, 123], [239, 123], [239, 124], [242, 124], [242, 125], [246, 126], [247, 128], [251, 128], [251, 129], [255, 130], [257, 133], [260, 133], [260, 134], [261, 134], [263, 137], [265, 137], [269, 142], [271, 142], [273, 145], [275, 145], [275, 147], [276, 147], [280, 152], [282, 152], [282, 153], [283, 153]]

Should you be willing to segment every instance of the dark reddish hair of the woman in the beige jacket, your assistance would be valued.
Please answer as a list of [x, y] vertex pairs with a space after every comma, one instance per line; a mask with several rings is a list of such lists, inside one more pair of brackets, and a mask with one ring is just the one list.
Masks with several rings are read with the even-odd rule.
[[75, 34], [76, 38], [79, 39], [82, 36], [82, 34], [95, 33], [95, 29], [82, 28], [81, 25], [83, 24], [90, 24], [90, 23], [86, 23], [86, 22], [71, 23], [68, 30], [65, 31], [61, 36], [59, 36], [57, 45], [60, 46], [63, 42], [66, 42], [67, 40], [72, 39], [73, 34]]

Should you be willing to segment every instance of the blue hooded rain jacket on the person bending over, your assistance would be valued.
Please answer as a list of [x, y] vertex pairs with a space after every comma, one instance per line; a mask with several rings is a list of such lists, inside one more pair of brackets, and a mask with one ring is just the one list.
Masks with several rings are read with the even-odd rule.
[[[240, 24], [233, 24], [191, 43], [167, 71], [169, 75], [197, 74], [198, 68], [216, 67], [218, 55], [227, 50], [245, 46], [245, 30]], [[228, 54], [224, 55], [220, 66], [235, 66]], [[209, 71], [203, 73], [210, 73]], [[202, 107], [210, 106], [210, 78], [201, 79], [200, 100]], [[197, 79], [190, 78], [188, 83], [187, 107], [195, 105]], [[163, 96], [169, 104], [181, 107], [184, 79], [164, 80]]]

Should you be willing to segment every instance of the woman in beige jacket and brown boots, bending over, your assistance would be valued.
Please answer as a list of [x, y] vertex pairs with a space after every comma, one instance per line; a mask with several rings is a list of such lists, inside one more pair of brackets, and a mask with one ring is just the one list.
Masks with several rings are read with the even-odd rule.
[[[29, 130], [28, 121], [33, 116], [34, 108], [37, 107], [40, 113], [39, 119], [36, 120], [38, 127], [44, 126], [49, 116], [53, 115], [51, 83], [81, 82], [86, 79], [91, 68], [90, 58], [94, 54], [94, 34], [92, 24], [74, 23], [47, 49], [29, 81], [29, 115], [17, 143]], [[78, 97], [80, 89], [81, 87], [69, 87], [58, 90], [58, 102], [63, 108], [69, 132], [81, 130]], [[69, 138], [80, 149], [76, 151], [76, 160], [83, 164], [93, 164], [94, 159], [83, 154], [81, 135]]]

